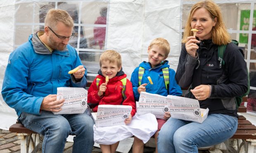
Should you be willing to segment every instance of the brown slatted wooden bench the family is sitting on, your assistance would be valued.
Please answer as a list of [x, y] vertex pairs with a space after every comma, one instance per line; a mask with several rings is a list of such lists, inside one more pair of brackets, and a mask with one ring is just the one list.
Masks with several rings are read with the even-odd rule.
[[[92, 82], [88, 82], [87, 87], [91, 85]], [[186, 90], [185, 88], [183, 90]], [[247, 102], [247, 97], [243, 97], [243, 102]], [[239, 113], [246, 113], [247, 109], [244, 106], [240, 106], [238, 108]], [[19, 139], [21, 140], [21, 153], [30, 153], [36, 152], [42, 142], [39, 134], [27, 129], [21, 123], [15, 123], [11, 127], [9, 127], [10, 132], [17, 133]], [[242, 143], [237, 143], [237, 149], [233, 146], [234, 140], [242, 140]], [[227, 148], [227, 152], [230, 153], [239, 153], [242, 146], [244, 146], [244, 150], [246, 153], [253, 153], [254, 146], [256, 146], [256, 126], [252, 125], [252, 123], [244, 116], [239, 116], [238, 118], [238, 128], [236, 133], [228, 140], [225, 141], [225, 146]], [[220, 144], [211, 148], [210, 152], [218, 152]], [[221, 153], [221, 152], [220, 152]]]

